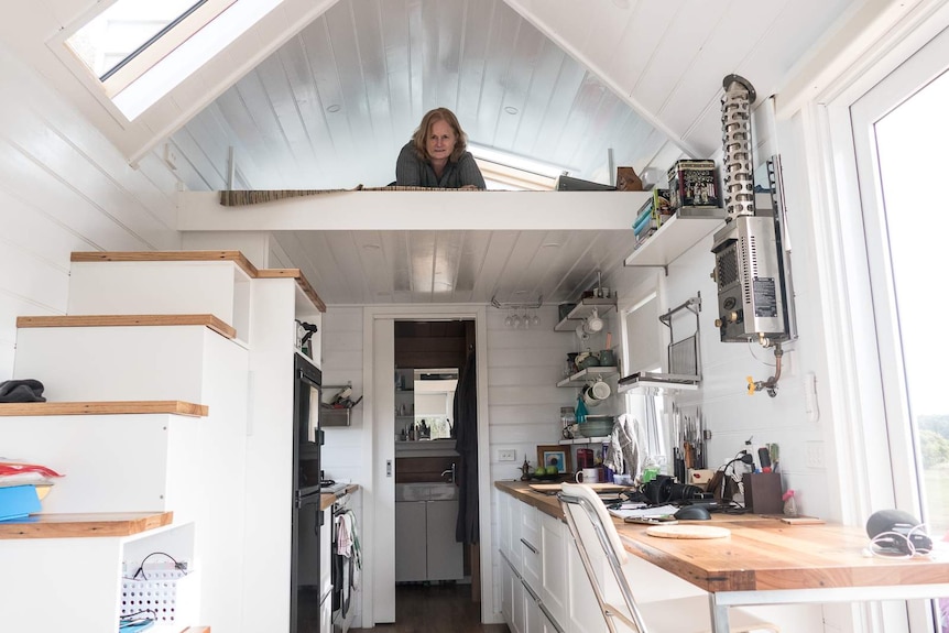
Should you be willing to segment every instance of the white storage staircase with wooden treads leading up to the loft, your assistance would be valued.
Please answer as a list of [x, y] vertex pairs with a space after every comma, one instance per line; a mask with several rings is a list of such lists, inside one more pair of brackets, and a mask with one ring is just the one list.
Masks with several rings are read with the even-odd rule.
[[[280, 508], [262, 499], [260, 483], [287, 479], [287, 490], [271, 490], [286, 505], [287, 533], [291, 494], [288, 458], [280, 476], [257, 462], [284, 459], [291, 399], [275, 410], [284, 413], [279, 424], [264, 428], [254, 422], [259, 394], [249, 376], [285, 360], [292, 389], [293, 317], [303, 304], [318, 319], [325, 305], [298, 270], [259, 270], [238, 251], [73, 253], [72, 261], [69, 314], [17, 323], [14, 378], [41, 380], [48, 402], [0, 404], [2, 455], [65, 474], [41, 514], [0, 522], [0, 630], [35, 630], [42, 611], [43, 630], [117, 631], [122, 569], [159, 552], [189, 572], [173, 615], [152, 631], [209, 632], [187, 624], [199, 621], [250, 633], [261, 616], [241, 604], [281, 580], [261, 578], [279, 576], [280, 566], [249, 554], [261, 546], [249, 534], [272, 533], [281, 549], [280, 519], [254, 515], [255, 505]], [[257, 285], [269, 280], [294, 283]], [[271, 295], [283, 299], [273, 314]], [[257, 324], [252, 309], [263, 313]], [[285, 330], [285, 348], [257, 345], [266, 337], [254, 327], [269, 319]], [[252, 351], [263, 352], [259, 367]], [[280, 592], [266, 600], [262, 608], [280, 621]]]

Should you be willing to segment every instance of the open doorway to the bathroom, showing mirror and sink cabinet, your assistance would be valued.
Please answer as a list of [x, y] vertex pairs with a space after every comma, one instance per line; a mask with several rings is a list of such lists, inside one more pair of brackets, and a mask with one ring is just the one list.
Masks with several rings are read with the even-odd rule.
[[468, 583], [471, 548], [457, 541], [456, 526], [473, 509], [466, 503], [471, 467], [457, 447], [466, 435], [456, 432], [477, 419], [457, 417], [455, 405], [456, 393], [466, 393], [458, 381], [475, 323], [397, 320], [394, 347], [395, 582]]

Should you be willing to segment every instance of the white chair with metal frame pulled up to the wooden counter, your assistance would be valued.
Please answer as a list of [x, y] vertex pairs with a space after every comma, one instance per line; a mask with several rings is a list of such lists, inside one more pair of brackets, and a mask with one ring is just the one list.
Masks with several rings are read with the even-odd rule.
[[[577, 542], [580, 560], [592, 585], [600, 611], [611, 633], [618, 633], [618, 623], [623, 625], [619, 631], [631, 630], [636, 633], [708, 633], [711, 631], [707, 593], [650, 602], [635, 600], [630, 587], [630, 578], [623, 572], [623, 565], [629, 555], [620, 542], [612, 517], [592, 488], [564, 483], [557, 496], [570, 533]], [[620, 598], [623, 604], [618, 605], [614, 598]], [[729, 624], [731, 633], [752, 631], [779, 633], [781, 631], [775, 624], [760, 621], [735, 608], [729, 610]]]

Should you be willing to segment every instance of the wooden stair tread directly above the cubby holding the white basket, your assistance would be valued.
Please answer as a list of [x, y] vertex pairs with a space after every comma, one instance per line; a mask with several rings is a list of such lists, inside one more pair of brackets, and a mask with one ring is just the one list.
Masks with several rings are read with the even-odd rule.
[[131, 536], [172, 523], [173, 512], [33, 514], [0, 521], [0, 538], [81, 538]]

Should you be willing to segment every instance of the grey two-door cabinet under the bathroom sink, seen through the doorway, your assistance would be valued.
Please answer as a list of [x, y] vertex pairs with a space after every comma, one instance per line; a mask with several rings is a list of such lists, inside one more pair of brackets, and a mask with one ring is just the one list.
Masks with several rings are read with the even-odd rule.
[[395, 581], [459, 580], [461, 544], [455, 541], [458, 500], [395, 503]]

